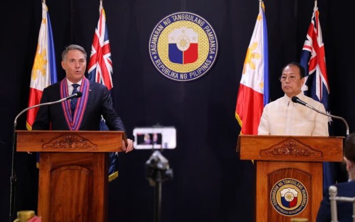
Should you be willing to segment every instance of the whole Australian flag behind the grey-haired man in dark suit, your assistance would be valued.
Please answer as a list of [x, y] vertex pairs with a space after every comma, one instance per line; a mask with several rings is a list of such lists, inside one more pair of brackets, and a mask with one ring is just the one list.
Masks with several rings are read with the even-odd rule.
[[[113, 69], [111, 61], [111, 48], [106, 26], [106, 15], [103, 8], [100, 8], [100, 17], [95, 29], [94, 39], [92, 40], [88, 73], [88, 79], [105, 85], [112, 96]], [[102, 119], [100, 123], [100, 130], [109, 130], [104, 119]], [[110, 153], [109, 181], [114, 180], [117, 176], [117, 154]]]

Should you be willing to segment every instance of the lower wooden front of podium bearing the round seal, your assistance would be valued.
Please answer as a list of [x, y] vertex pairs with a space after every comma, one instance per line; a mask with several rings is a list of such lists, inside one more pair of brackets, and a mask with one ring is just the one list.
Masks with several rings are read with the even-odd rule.
[[[315, 221], [322, 198], [322, 163], [257, 162], [257, 221]], [[267, 207], [265, 207], [267, 206]]]

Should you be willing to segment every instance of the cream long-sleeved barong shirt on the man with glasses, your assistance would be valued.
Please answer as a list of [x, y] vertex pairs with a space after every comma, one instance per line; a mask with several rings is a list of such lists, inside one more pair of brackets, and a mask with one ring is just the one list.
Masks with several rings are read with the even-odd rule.
[[[297, 95], [314, 108], [325, 112], [323, 104], [305, 96]], [[314, 110], [293, 103], [286, 94], [264, 107], [261, 116], [259, 135], [323, 135], [328, 136], [328, 118]]]

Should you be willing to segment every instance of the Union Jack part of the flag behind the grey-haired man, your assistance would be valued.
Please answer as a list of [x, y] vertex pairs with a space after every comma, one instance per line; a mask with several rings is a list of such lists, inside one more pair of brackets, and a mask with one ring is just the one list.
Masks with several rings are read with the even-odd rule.
[[88, 78], [112, 89], [112, 61], [109, 34], [106, 27], [105, 10], [100, 10], [100, 18], [95, 29], [88, 65]]

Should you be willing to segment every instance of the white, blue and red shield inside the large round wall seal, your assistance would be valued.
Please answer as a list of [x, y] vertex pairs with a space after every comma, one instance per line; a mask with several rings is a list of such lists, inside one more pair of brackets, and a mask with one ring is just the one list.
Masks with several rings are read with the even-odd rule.
[[168, 35], [168, 42], [170, 62], [188, 64], [198, 59], [198, 34], [193, 29], [174, 29]]

